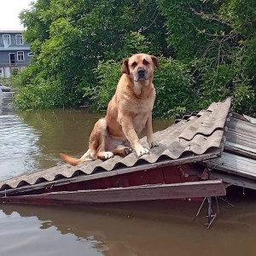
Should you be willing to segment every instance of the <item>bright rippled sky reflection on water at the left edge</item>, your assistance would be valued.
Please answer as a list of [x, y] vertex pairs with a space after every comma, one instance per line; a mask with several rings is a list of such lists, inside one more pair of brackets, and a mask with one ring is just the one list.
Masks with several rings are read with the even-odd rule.
[[15, 115], [0, 116], [0, 180], [40, 168], [39, 132]]

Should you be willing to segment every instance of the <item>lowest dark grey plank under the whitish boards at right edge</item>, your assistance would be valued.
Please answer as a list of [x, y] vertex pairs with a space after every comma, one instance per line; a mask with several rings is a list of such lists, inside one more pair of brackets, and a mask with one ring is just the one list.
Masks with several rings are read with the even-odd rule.
[[256, 189], [256, 182], [247, 177], [239, 177], [234, 174], [227, 174], [225, 172], [211, 171], [211, 178], [218, 178], [223, 180], [225, 183], [230, 183], [242, 188]]

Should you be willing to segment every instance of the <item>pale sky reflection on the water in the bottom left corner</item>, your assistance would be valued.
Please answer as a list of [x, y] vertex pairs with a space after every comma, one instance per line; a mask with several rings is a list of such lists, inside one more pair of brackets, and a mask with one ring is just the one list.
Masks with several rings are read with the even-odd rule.
[[0, 233], [1, 255], [102, 255], [100, 242], [78, 238], [70, 232], [60, 236], [51, 221], [35, 216], [21, 218], [18, 212], [0, 210], [0, 225], [4, 230]]

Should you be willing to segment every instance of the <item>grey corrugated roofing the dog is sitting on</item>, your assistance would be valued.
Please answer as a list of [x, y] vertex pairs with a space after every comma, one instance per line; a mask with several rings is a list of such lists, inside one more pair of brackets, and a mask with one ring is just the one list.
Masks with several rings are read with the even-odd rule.
[[[150, 154], [143, 155], [140, 159], [135, 153], [131, 153], [125, 158], [114, 156], [106, 161], [87, 161], [79, 166], [55, 166], [1, 182], [0, 190], [7, 187], [14, 189], [22, 185], [49, 182], [60, 177], [69, 178], [77, 175], [78, 172], [84, 172], [84, 174], [91, 174], [96, 171], [109, 172], [124, 166], [129, 168], [143, 163], [153, 164], [163, 159], [177, 160], [183, 158], [185, 154], [192, 156], [205, 154], [211, 148], [220, 148], [229, 109], [230, 98], [224, 102], [213, 102], [207, 110], [202, 110], [193, 118], [182, 119], [166, 130], [156, 132], [154, 137], [159, 143], [159, 147], [151, 148]], [[145, 137], [141, 142], [147, 146]]]

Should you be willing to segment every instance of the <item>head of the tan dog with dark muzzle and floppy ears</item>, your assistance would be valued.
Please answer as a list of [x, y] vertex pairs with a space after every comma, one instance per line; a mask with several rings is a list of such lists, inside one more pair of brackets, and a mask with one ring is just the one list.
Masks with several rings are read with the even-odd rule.
[[158, 70], [161, 68], [157, 57], [154, 55], [137, 54], [132, 55], [129, 59], [125, 59], [122, 73], [130, 75], [135, 82], [138, 82], [153, 77], [154, 67], [157, 67]]

